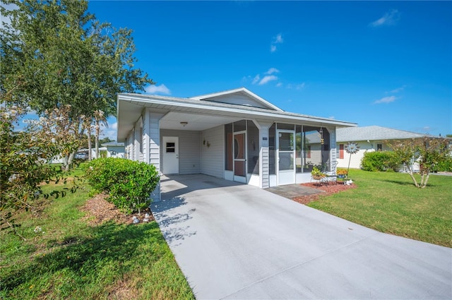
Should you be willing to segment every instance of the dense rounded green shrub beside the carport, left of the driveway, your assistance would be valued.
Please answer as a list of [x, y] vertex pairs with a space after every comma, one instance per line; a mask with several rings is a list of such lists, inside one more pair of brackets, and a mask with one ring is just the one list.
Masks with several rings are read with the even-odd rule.
[[160, 179], [151, 164], [112, 157], [92, 160], [85, 174], [95, 191], [109, 193], [108, 200], [129, 214], [148, 208]]

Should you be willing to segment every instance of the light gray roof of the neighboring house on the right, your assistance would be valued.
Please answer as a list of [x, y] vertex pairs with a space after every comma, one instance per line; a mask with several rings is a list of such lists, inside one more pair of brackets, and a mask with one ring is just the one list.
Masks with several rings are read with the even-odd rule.
[[337, 128], [337, 142], [351, 142], [358, 140], [403, 140], [406, 138], [422, 138], [425, 134], [402, 131], [381, 126]]

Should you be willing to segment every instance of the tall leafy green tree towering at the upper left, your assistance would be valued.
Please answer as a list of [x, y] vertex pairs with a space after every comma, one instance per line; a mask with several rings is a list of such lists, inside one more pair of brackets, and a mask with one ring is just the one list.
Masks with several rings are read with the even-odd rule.
[[[87, 13], [88, 1], [4, 0], [1, 13], [11, 20], [1, 29], [0, 89], [11, 92], [37, 114], [71, 105], [69, 119], [81, 136], [85, 120], [95, 112], [116, 114], [119, 92], [143, 90], [153, 84], [133, 68], [131, 30], [116, 30]], [[4, 7], [15, 4], [18, 9]], [[70, 164], [75, 152], [67, 157]]]

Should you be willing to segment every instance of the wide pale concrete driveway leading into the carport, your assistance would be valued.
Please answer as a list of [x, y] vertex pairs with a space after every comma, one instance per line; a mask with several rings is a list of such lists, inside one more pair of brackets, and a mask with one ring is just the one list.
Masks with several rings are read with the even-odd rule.
[[197, 299], [451, 299], [452, 249], [254, 186], [162, 178], [153, 214]]

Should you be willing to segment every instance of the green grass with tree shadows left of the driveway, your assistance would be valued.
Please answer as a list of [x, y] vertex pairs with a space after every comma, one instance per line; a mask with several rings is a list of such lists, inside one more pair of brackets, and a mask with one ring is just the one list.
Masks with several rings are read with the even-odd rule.
[[80, 210], [89, 194], [82, 185], [21, 215], [26, 241], [0, 233], [0, 299], [194, 299], [157, 223], [91, 227]]

